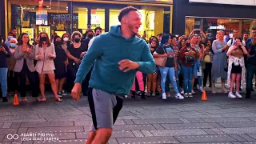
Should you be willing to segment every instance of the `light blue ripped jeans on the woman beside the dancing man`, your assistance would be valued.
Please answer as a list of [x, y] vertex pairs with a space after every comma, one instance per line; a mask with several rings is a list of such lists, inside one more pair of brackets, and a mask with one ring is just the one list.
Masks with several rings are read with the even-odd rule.
[[178, 86], [176, 83], [176, 77], [175, 77], [175, 71], [174, 67], [159, 67], [160, 73], [161, 73], [161, 87], [162, 87], [162, 93], [166, 92], [166, 77], [167, 74], [169, 74], [169, 78], [171, 83], [173, 84], [174, 91], [176, 94], [178, 94]]

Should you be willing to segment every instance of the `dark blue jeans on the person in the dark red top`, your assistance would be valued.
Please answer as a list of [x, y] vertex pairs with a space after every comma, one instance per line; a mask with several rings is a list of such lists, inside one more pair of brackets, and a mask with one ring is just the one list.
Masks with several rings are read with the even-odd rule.
[[184, 93], [192, 93], [193, 67], [182, 66]]

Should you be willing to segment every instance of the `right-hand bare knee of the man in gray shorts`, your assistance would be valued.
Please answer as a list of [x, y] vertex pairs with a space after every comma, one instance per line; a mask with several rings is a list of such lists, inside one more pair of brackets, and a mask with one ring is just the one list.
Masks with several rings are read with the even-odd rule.
[[106, 144], [112, 134], [112, 129], [110, 128], [100, 128], [96, 132], [94, 141], [91, 144]]

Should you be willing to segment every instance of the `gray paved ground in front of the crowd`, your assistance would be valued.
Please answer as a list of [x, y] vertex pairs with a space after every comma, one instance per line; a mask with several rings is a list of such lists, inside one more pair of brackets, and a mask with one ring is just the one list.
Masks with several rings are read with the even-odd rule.
[[[0, 144], [86, 141], [91, 122], [86, 97], [75, 102], [67, 96], [64, 102], [55, 102], [54, 96], [47, 95], [47, 102], [29, 98], [30, 102], [21, 102], [19, 106], [0, 103]], [[256, 143], [255, 98], [230, 99], [226, 94], [210, 93], [207, 96], [207, 102], [201, 101], [200, 94], [166, 101], [126, 98], [109, 143]], [[10, 140], [16, 138], [14, 134], [18, 134], [18, 140]]]

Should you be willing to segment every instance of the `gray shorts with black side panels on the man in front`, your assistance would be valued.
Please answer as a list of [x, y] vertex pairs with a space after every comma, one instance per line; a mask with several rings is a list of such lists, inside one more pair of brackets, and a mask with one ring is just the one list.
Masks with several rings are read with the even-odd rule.
[[93, 119], [90, 131], [96, 131], [98, 128], [112, 129], [122, 109], [122, 97], [90, 88], [88, 101]]

